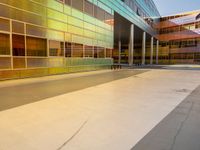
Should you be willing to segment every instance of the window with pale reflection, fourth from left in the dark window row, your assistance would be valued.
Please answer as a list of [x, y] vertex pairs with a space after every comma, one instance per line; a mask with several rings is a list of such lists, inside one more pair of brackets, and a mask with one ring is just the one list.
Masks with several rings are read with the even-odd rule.
[[63, 56], [64, 43], [59, 41], [49, 41], [49, 56]]

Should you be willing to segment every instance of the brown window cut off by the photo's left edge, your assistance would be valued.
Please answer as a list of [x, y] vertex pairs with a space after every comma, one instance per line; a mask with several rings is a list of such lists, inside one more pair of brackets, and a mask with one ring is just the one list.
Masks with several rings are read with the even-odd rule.
[[0, 33], [0, 55], [10, 55], [10, 35]]

